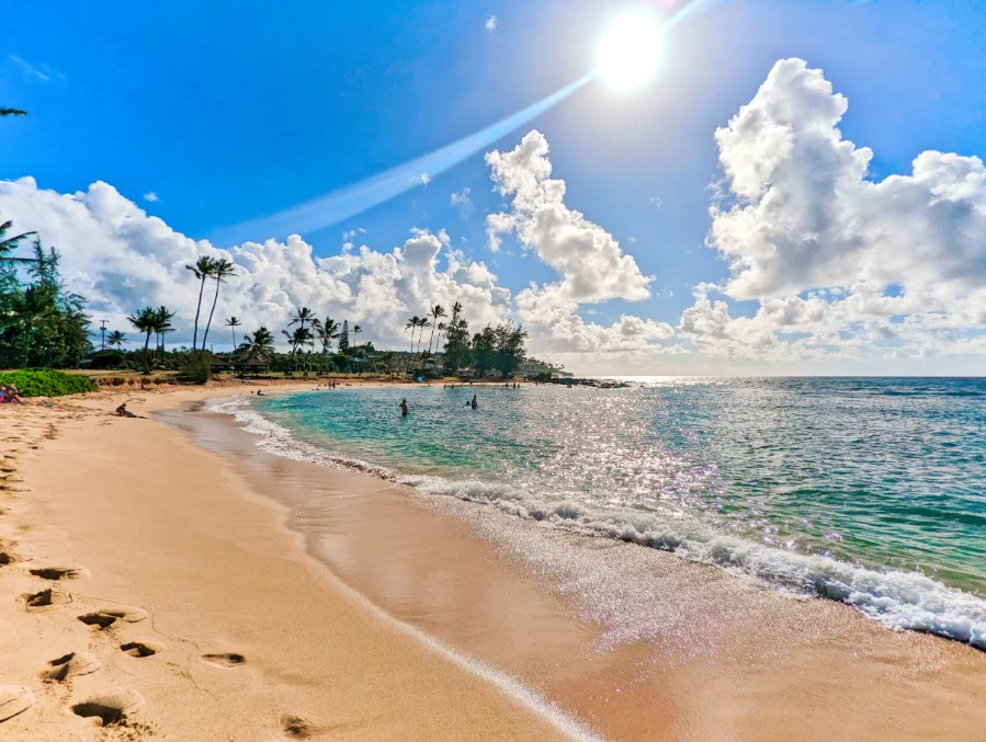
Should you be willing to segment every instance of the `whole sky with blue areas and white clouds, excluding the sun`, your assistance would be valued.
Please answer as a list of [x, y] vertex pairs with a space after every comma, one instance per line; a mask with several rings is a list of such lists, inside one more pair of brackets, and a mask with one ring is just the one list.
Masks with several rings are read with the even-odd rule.
[[[655, 73], [586, 80], [630, 13], [680, 13]], [[577, 374], [982, 375], [983, 48], [972, 1], [21, 3], [0, 216], [179, 344], [205, 253], [246, 330], [458, 300]]]

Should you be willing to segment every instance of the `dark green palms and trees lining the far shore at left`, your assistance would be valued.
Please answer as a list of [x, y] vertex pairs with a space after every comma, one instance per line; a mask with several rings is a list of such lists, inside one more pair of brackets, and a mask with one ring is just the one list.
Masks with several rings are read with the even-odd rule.
[[[2, 116], [22, 113], [0, 109]], [[94, 352], [89, 339], [90, 317], [86, 312], [86, 299], [66, 290], [58, 270], [58, 251], [55, 248], [45, 250], [35, 232], [9, 235], [12, 226], [10, 220], [0, 222], [0, 367], [70, 368], [78, 367], [86, 358], [92, 369], [139, 369], [150, 374], [155, 368], [161, 368], [179, 370], [182, 378], [196, 383], [209, 378], [215, 358], [206, 350], [206, 343], [222, 285], [236, 275], [236, 266], [230, 261], [202, 255], [194, 264], [185, 266], [200, 282], [191, 351], [184, 346], [167, 350], [167, 335], [175, 331], [172, 323], [175, 312], [165, 306], [147, 306], [127, 318], [134, 330], [144, 335], [143, 347], [126, 350], [129, 343], [126, 333], [112, 330], [106, 336], [110, 350]], [[31, 238], [34, 238], [32, 252], [15, 254], [15, 250]], [[200, 345], [199, 323], [205, 285], [209, 279], [216, 285]], [[281, 331], [290, 351], [280, 353], [274, 346], [274, 334], [265, 327], [242, 335], [242, 342], [237, 344], [237, 328], [242, 321], [230, 317], [225, 320], [225, 326], [230, 330], [233, 351], [223, 354], [220, 359], [231, 364], [259, 359], [275, 373], [376, 370], [429, 377], [443, 374], [509, 377], [524, 359], [528, 332], [522, 326], [505, 322], [471, 334], [463, 309], [456, 301], [450, 316], [444, 306], [437, 304], [429, 307], [423, 317], [411, 317], [405, 326], [411, 333], [409, 352], [378, 352], [373, 343], [359, 342], [363, 332], [361, 326], [350, 328], [348, 320], [340, 324], [331, 317], [319, 319], [308, 307], [298, 307], [291, 312], [287, 329]], [[427, 328], [431, 332], [428, 346], [422, 350]], [[151, 335], [155, 336], [154, 349]], [[78, 376], [65, 377], [70, 379], [68, 381], [57, 380], [65, 375], [50, 370], [23, 373], [27, 376], [14, 383], [25, 393], [73, 393], [92, 386], [88, 379]], [[61, 391], [63, 388], [68, 391]]]

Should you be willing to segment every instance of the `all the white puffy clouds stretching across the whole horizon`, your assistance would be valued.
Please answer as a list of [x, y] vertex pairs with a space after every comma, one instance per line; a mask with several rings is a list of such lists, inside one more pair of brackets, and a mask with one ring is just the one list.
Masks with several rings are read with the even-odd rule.
[[[489, 248], [513, 240], [555, 272], [517, 292], [452, 248], [444, 230], [412, 229], [403, 244], [381, 249], [356, 247], [361, 228], [325, 258], [297, 235], [217, 250], [107, 183], [63, 194], [31, 178], [0, 182], [0, 213], [58, 246], [69, 286], [90, 298], [97, 319], [121, 329], [135, 308], [159, 304], [191, 327], [197, 285], [184, 265], [207, 253], [238, 266], [217, 317], [241, 317], [245, 329], [279, 329], [294, 307], [308, 306], [359, 322], [378, 345], [403, 347], [410, 315], [462, 301], [473, 327], [523, 321], [533, 353], [607, 373], [721, 370], [714, 363], [724, 358], [764, 370], [986, 354], [986, 167], [926, 151], [910, 172], [874, 180], [873, 152], [839, 129], [847, 111], [820, 70], [785, 59], [715, 132], [722, 178], [706, 244], [726, 278], [690, 287], [691, 306], [669, 321], [586, 319], [596, 305], [671, 293], [656, 292], [655, 276], [611, 232], [566, 203], [537, 130], [486, 155], [505, 199], [486, 217]], [[450, 206], [468, 213], [475, 193], [464, 187]], [[229, 342], [225, 332], [209, 338], [217, 347]]]

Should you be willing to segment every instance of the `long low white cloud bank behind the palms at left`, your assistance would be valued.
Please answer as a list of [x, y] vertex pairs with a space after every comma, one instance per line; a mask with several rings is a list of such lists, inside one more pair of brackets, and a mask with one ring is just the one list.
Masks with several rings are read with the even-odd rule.
[[[0, 213], [61, 248], [68, 286], [90, 299], [100, 319], [125, 330], [127, 313], [163, 304], [178, 312], [178, 342], [190, 340], [199, 290], [184, 266], [200, 254], [236, 263], [237, 276], [224, 285], [216, 316], [241, 317], [250, 330], [282, 328], [292, 308], [307, 306], [362, 324], [367, 339], [400, 346], [407, 317], [429, 305], [462, 301], [466, 319], [479, 326], [503, 321], [511, 310], [510, 290], [484, 263], [449, 249], [444, 230], [415, 230], [390, 251], [364, 246], [330, 258], [315, 256], [296, 235], [217, 250], [148, 216], [107, 183], [61, 194], [38, 189], [31, 178], [0, 182]], [[225, 344], [226, 336], [217, 333], [215, 340]]]

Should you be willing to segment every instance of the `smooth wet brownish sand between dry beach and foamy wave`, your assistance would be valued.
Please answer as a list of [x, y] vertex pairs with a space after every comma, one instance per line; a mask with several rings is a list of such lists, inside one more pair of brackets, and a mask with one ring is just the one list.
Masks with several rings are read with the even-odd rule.
[[389, 615], [621, 740], [975, 739], [986, 653], [667, 552], [267, 454], [171, 415]]

